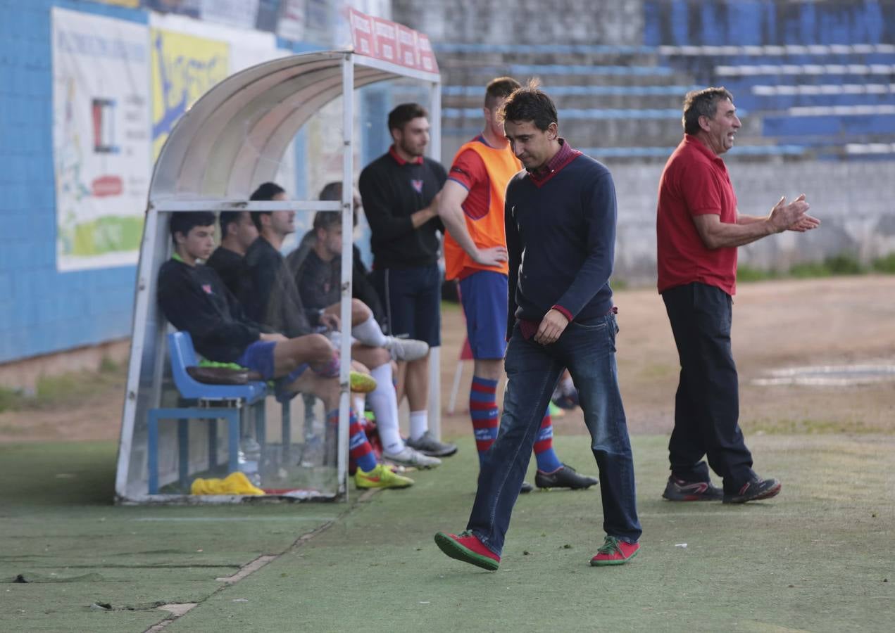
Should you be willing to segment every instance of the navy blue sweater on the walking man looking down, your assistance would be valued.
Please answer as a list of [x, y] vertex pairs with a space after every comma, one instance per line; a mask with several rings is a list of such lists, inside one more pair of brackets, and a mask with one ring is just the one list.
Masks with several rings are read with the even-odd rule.
[[554, 305], [576, 322], [612, 308], [616, 195], [612, 174], [577, 156], [538, 187], [527, 172], [507, 185], [507, 338], [516, 319], [539, 323]]

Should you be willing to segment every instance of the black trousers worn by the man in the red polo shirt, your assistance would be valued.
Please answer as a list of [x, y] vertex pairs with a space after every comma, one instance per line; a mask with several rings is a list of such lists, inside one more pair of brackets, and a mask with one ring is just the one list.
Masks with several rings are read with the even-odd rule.
[[754, 476], [752, 453], [739, 428], [737, 366], [730, 350], [732, 300], [704, 283], [662, 292], [680, 357], [674, 431], [669, 442], [671, 473], [686, 481], [708, 481], [703, 456], [737, 493]]

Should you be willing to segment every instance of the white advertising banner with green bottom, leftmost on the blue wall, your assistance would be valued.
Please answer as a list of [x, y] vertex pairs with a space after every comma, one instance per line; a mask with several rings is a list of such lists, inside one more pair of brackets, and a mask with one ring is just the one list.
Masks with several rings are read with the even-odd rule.
[[136, 263], [151, 173], [147, 28], [54, 7], [56, 267]]

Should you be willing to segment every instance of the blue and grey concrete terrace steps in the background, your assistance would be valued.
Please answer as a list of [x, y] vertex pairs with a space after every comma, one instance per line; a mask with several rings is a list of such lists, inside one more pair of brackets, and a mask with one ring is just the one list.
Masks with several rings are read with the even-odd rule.
[[613, 160], [667, 157], [680, 139], [683, 96], [706, 85], [734, 92], [744, 122], [737, 156], [746, 161], [882, 156], [895, 140], [895, 46], [435, 48], [446, 152], [479, 131], [482, 88], [500, 74], [540, 77], [564, 133]]

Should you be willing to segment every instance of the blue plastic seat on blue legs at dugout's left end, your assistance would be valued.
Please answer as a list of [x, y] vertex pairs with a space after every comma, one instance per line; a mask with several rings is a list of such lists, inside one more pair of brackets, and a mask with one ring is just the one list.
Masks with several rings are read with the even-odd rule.
[[217, 420], [227, 421], [227, 471], [239, 468], [239, 439], [243, 416], [247, 409], [254, 413], [258, 442], [264, 438], [264, 396], [267, 385], [262, 382], [249, 384], [204, 384], [194, 380], [186, 372], [187, 367], [199, 364], [192, 337], [187, 332], [168, 334], [168, 351], [171, 357], [171, 374], [183, 405], [176, 408], [149, 409], [147, 416], [149, 469], [149, 494], [158, 494], [158, 422], [177, 420], [177, 444], [179, 454], [179, 479], [182, 489], [186, 488], [189, 477], [189, 420], [208, 420], [209, 427], [209, 469], [217, 467]]

